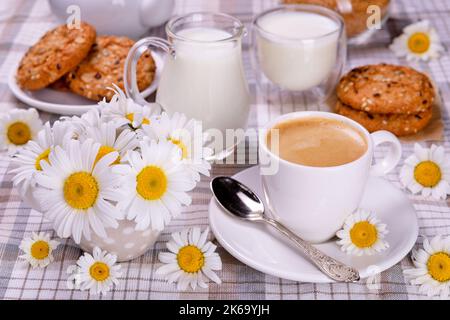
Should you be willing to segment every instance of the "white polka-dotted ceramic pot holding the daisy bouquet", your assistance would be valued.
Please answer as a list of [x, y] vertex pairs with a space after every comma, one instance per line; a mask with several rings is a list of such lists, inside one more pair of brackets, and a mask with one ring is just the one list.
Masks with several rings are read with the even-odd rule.
[[[17, 188], [22, 201], [32, 207], [34, 210], [42, 212], [39, 202], [34, 197], [33, 192], [28, 189], [22, 192], [21, 188]], [[144, 254], [148, 249], [153, 247], [160, 235], [160, 231], [154, 231], [151, 228], [137, 231], [134, 221], [119, 221], [117, 229], [107, 228], [106, 238], [101, 238], [95, 233], [91, 233], [91, 240], [88, 241], [84, 237], [81, 238], [80, 247], [84, 251], [92, 253], [94, 247], [99, 247], [109, 253], [117, 255], [117, 261], [128, 261]]]

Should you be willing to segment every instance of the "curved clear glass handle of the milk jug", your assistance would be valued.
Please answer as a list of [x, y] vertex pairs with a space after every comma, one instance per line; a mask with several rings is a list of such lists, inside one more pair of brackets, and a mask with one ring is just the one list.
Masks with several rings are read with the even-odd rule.
[[168, 54], [175, 55], [172, 45], [162, 38], [148, 37], [139, 40], [128, 52], [124, 68], [124, 86], [127, 96], [140, 105], [148, 105], [149, 103], [142, 97], [139, 92], [136, 79], [136, 67], [141, 55], [150, 47], [158, 48]]

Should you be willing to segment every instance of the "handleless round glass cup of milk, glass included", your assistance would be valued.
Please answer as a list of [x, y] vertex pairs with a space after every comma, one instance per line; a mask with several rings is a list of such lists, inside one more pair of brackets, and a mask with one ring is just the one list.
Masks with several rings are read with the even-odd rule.
[[267, 92], [302, 92], [323, 102], [347, 55], [342, 18], [315, 5], [284, 5], [255, 17], [252, 30], [257, 83]]

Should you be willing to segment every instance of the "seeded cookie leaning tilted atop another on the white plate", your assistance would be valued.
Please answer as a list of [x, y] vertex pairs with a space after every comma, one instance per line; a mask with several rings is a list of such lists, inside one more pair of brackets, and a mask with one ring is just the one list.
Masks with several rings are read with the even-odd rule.
[[79, 28], [64, 24], [48, 31], [20, 61], [17, 83], [26, 90], [47, 87], [88, 55], [95, 35], [94, 27], [84, 22]]

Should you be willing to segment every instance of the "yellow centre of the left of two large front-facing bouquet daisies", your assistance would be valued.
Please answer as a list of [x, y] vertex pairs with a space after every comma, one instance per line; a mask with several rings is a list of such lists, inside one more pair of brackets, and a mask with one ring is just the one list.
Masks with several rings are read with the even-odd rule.
[[98, 196], [98, 183], [88, 172], [76, 172], [64, 182], [64, 199], [74, 209], [91, 208]]

